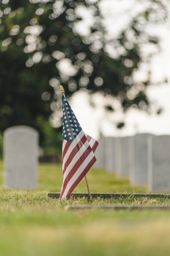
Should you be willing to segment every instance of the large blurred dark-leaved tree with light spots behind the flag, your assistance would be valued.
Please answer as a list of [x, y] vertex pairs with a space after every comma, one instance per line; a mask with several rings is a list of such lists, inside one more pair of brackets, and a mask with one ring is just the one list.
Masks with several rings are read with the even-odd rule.
[[[99, 2], [1, 1], [0, 131], [12, 125], [31, 125], [40, 132], [43, 145], [52, 111], [57, 110], [53, 118], [61, 126], [60, 83], [66, 95], [85, 88], [116, 96], [124, 110], [132, 105], [147, 110], [149, 72], [148, 79], [140, 83], [134, 82], [133, 72], [143, 61], [141, 45], [158, 45], [158, 38], [143, 28], [164, 21], [166, 6], [148, 0], [115, 39], [103, 25]], [[80, 10], [93, 16], [87, 35], [76, 30], [82, 19]], [[105, 107], [114, 110], [109, 104]]]

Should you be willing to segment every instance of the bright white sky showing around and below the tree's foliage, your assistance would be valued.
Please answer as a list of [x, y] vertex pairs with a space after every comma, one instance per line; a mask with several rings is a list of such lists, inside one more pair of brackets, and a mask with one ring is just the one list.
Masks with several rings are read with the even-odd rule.
[[[94, 0], [95, 1], [95, 0]], [[103, 22], [107, 27], [108, 35], [118, 37], [124, 25], [130, 22], [131, 18], [139, 13], [149, 4], [149, 1], [136, 0], [102, 0], [100, 8], [103, 12]], [[80, 10], [84, 19], [77, 25], [77, 30], [82, 31], [84, 35], [88, 33], [88, 27], [92, 21], [92, 16]], [[170, 12], [170, 10], [168, 10]], [[169, 15], [170, 16], [170, 15]], [[99, 132], [103, 136], [130, 136], [136, 133], [153, 133], [155, 135], [170, 134], [170, 83], [162, 83], [167, 78], [170, 81], [170, 18], [162, 25], [149, 25], [145, 29], [152, 35], [160, 38], [160, 52], [153, 55], [151, 63], [141, 65], [138, 72], [135, 73], [136, 81], [140, 81], [147, 75], [148, 69], [151, 70], [152, 86], [147, 89], [147, 95], [151, 102], [152, 114], [144, 111], [130, 109], [123, 114], [119, 104], [115, 100], [115, 111], [112, 114], [106, 114], [102, 107], [103, 98], [96, 94], [94, 100], [97, 108], [94, 109], [89, 105], [89, 95], [86, 91], [74, 93], [70, 100], [70, 105], [77, 116], [82, 129], [87, 134], [98, 139]], [[154, 49], [147, 45], [143, 48], [143, 56]], [[154, 85], [160, 82], [160, 85]], [[163, 112], [155, 114], [155, 110], [161, 107]], [[123, 129], [116, 129], [116, 123], [125, 121]]]

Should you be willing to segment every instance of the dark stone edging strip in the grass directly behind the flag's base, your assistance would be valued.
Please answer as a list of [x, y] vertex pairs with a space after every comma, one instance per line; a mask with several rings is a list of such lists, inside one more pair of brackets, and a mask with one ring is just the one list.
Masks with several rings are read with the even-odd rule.
[[[60, 198], [60, 193], [48, 193], [48, 197], [51, 198]], [[72, 193], [71, 194], [72, 198], [88, 198], [88, 193]], [[170, 194], [129, 194], [129, 193], [91, 193], [91, 198], [169, 198], [170, 199]]]

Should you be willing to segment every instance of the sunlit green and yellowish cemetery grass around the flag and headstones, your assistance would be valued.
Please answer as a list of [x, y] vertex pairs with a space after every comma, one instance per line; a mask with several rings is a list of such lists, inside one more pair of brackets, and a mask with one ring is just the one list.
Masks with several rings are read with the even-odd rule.
[[[169, 210], [66, 210], [67, 205], [168, 205], [170, 199], [71, 199], [47, 197], [60, 192], [61, 165], [39, 165], [36, 190], [5, 190], [0, 162], [0, 255], [2, 256], [157, 256], [170, 254]], [[91, 192], [145, 193], [104, 170], [87, 174]], [[74, 192], [87, 192], [82, 180]]]

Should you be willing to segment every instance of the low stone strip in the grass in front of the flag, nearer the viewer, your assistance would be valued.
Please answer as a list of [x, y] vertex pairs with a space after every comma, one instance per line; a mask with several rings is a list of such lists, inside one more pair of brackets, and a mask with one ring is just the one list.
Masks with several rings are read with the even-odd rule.
[[72, 205], [66, 206], [65, 210], [170, 210], [169, 205]]

